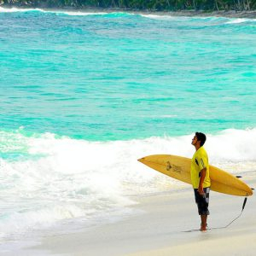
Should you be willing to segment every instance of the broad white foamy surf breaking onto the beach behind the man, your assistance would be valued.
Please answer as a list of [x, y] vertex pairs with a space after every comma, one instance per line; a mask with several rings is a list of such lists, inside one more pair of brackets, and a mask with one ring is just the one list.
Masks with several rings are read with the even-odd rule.
[[[186, 186], [137, 162], [148, 154], [191, 157], [193, 134], [131, 141], [88, 142], [50, 133], [0, 132], [0, 236], [48, 227], [132, 205], [129, 195]], [[207, 135], [213, 165], [233, 173], [256, 170], [256, 129]], [[111, 218], [111, 214], [108, 215]]]

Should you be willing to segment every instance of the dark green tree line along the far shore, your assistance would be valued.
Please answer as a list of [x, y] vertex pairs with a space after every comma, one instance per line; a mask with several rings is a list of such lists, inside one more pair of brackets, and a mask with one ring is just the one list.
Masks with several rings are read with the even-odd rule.
[[0, 4], [45, 8], [118, 8], [155, 11], [256, 9], [256, 0], [0, 0]]

